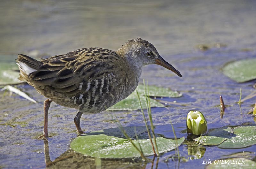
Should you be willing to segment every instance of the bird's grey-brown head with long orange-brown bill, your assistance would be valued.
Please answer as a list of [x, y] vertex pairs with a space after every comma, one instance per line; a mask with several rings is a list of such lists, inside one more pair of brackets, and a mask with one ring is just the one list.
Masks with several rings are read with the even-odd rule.
[[135, 64], [158, 64], [182, 77], [178, 70], [158, 54], [154, 45], [141, 38], [129, 40], [117, 50], [117, 53], [128, 57]]

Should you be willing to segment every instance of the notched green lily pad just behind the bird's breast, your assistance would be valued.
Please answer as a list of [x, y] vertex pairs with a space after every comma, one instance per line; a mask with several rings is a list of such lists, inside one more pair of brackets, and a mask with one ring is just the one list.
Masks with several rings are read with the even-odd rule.
[[[140, 94], [140, 101], [143, 108], [146, 108], [146, 96], [144, 92], [144, 86], [138, 85], [137, 89]], [[126, 99], [116, 103], [114, 106], [109, 107], [108, 110], [139, 110], [140, 109], [140, 103], [139, 99], [136, 93], [136, 90], [132, 92], [130, 96], [128, 96]], [[180, 97], [182, 94], [180, 94], [177, 91], [172, 91], [168, 88], [164, 87], [156, 87], [156, 86], [149, 86], [149, 95], [150, 96], [156, 96], [156, 97]], [[150, 105], [151, 107], [164, 107], [162, 103], [159, 103], [158, 101], [150, 98]]]

